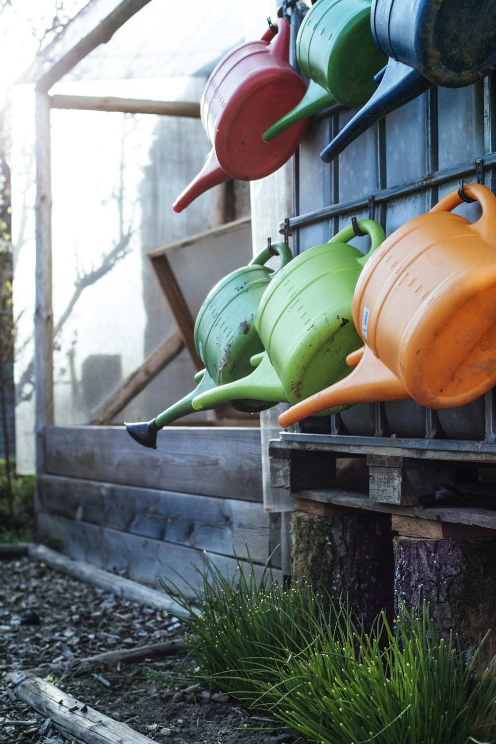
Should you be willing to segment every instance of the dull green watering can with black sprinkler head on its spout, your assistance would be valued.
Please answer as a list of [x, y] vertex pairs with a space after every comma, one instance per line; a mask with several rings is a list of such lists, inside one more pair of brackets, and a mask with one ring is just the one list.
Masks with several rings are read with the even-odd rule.
[[[280, 257], [280, 264], [275, 270], [269, 269], [265, 263], [276, 255]], [[254, 324], [257, 308], [272, 278], [292, 257], [286, 243], [272, 243], [248, 266], [228, 274], [210, 290], [200, 307], [194, 330], [196, 351], [205, 365], [205, 369], [195, 376], [197, 388], [151, 421], [126, 423], [126, 429], [133, 439], [145, 447], [157, 449], [157, 432], [176, 419], [193, 413], [195, 409], [191, 404], [194, 397], [217, 385], [244, 377], [253, 369], [251, 357], [263, 351]], [[216, 408], [226, 402], [237, 411], [251, 413], [273, 405], [268, 400], [223, 398], [222, 402], [202, 408]]]

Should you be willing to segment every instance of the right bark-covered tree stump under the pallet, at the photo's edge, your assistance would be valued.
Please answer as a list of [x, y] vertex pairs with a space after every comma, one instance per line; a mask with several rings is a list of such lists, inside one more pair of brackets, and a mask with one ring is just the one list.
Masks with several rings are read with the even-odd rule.
[[[469, 654], [496, 618], [496, 538], [393, 539], [396, 597], [407, 609], [434, 603], [443, 633]], [[487, 650], [489, 651], [489, 644]]]

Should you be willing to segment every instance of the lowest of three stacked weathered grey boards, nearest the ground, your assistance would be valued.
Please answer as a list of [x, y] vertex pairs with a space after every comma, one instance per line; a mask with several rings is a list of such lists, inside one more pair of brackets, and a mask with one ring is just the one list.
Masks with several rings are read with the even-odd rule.
[[[236, 571], [236, 559], [216, 553], [206, 553], [197, 548], [185, 548], [172, 542], [131, 535], [110, 527], [98, 527], [88, 522], [73, 522], [59, 516], [38, 514], [41, 540], [57, 536], [69, 556], [86, 561], [106, 571], [125, 572], [135, 581], [153, 583], [164, 578], [175, 583], [178, 589], [191, 594], [190, 586], [202, 583], [200, 574], [209, 564], [230, 577]], [[247, 565], [248, 567], [248, 565]], [[258, 576], [262, 571], [255, 566]], [[275, 572], [278, 576], [277, 571]]]

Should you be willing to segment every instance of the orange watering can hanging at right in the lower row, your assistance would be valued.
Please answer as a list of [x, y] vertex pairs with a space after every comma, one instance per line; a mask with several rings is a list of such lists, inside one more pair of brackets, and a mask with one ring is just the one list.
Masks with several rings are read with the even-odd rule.
[[[468, 195], [483, 214], [451, 214]], [[470, 184], [448, 193], [378, 248], [353, 295], [365, 346], [352, 373], [293, 405], [289, 426], [338, 405], [413, 398], [428, 408], [470, 403], [496, 383], [496, 197]]]

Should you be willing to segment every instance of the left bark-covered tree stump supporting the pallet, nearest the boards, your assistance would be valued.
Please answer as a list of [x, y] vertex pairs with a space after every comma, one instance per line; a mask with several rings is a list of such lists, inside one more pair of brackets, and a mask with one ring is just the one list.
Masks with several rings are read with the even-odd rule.
[[292, 514], [292, 575], [350, 606], [371, 623], [381, 609], [393, 612], [393, 548], [387, 514]]

